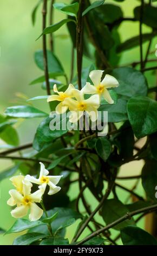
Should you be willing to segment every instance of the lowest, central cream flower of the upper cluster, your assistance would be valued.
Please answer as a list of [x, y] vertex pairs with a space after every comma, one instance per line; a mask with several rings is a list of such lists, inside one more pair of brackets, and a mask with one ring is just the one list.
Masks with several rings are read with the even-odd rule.
[[69, 98], [64, 100], [71, 112], [69, 121], [75, 123], [82, 117], [84, 111], [89, 114], [91, 121], [95, 121], [97, 119], [97, 108], [100, 106], [99, 95], [95, 94], [85, 100], [82, 90], [73, 89], [72, 93], [76, 100]]

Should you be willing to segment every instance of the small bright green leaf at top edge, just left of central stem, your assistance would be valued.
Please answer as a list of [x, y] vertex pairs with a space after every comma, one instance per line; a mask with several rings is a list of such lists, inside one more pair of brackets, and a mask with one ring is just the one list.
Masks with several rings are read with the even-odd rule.
[[65, 13], [70, 16], [77, 16], [77, 12], [79, 9], [79, 4], [78, 3], [73, 3], [73, 4], [64, 4], [64, 3], [55, 3], [54, 8], [62, 11], [62, 13]]

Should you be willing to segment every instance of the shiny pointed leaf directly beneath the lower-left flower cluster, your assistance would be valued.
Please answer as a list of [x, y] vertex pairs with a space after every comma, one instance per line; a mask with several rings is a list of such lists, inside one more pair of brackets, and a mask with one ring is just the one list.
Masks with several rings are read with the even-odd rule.
[[12, 227], [6, 231], [5, 234], [17, 233], [23, 230], [43, 225], [41, 221], [28, 221], [24, 218], [18, 218], [18, 220], [12, 225]]

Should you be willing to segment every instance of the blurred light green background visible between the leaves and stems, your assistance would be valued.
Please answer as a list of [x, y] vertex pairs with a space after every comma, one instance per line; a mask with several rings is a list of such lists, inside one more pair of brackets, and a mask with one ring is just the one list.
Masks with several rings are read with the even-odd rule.
[[[49, 1], [50, 2], [50, 1]], [[56, 2], [62, 2], [56, 1]], [[69, 3], [70, 1], [63, 1]], [[94, 2], [94, 1], [91, 1]], [[41, 7], [38, 9], [36, 16], [36, 24], [33, 27], [31, 23], [31, 11], [34, 8], [37, 0], [1, 0], [0, 2], [0, 33], [1, 33], [1, 57], [0, 57], [0, 113], [3, 114], [8, 106], [25, 104], [25, 100], [33, 96], [44, 95], [45, 91], [41, 89], [40, 84], [29, 86], [29, 83], [43, 75], [43, 72], [37, 68], [34, 63], [34, 52], [42, 48], [42, 39], [35, 41], [41, 33], [42, 19]], [[133, 16], [133, 9], [139, 5], [138, 0], [126, 0], [125, 2], [115, 2], [108, 0], [106, 3], [114, 3], [121, 6], [123, 13], [126, 17]], [[55, 11], [55, 22], [64, 18], [64, 14]], [[150, 29], [143, 26], [144, 32], [150, 32]], [[131, 38], [139, 33], [138, 22], [125, 22], [119, 27], [121, 41]], [[71, 41], [68, 36], [61, 38], [61, 35], [68, 35], [67, 27], [63, 26], [59, 31], [54, 34], [55, 39], [55, 53], [61, 60], [64, 69], [69, 76], [70, 70], [70, 54], [71, 54]], [[155, 50], [155, 39], [153, 40], [152, 50]], [[145, 52], [147, 44], [144, 44]], [[153, 56], [155, 57], [155, 56]], [[121, 65], [134, 62], [139, 59], [139, 48], [126, 51], [121, 58]], [[83, 66], [91, 64], [91, 60], [83, 59]], [[155, 86], [155, 76], [152, 72], [147, 72], [149, 86]], [[36, 101], [35, 107], [48, 111], [47, 102], [44, 100]], [[41, 119], [18, 121], [17, 127], [19, 133], [20, 144], [31, 142], [34, 138], [35, 130]], [[1, 144], [4, 142], [0, 141]], [[141, 171], [142, 162], [132, 162], [125, 164], [121, 169], [121, 175], [134, 175], [139, 174]], [[12, 166], [11, 161], [1, 160], [0, 172]], [[123, 181], [121, 184], [132, 187], [135, 181]], [[0, 198], [0, 227], [8, 229], [15, 221], [10, 215], [10, 208], [6, 204], [9, 198], [8, 191], [12, 188], [9, 179], [1, 182], [1, 198]], [[77, 194], [78, 188], [76, 185], [71, 186], [69, 196], [73, 199]], [[117, 190], [120, 199], [124, 202], [127, 198], [127, 193]], [[138, 192], [142, 193], [141, 184], [138, 186]], [[87, 191], [87, 196], [91, 197]], [[91, 198], [93, 200], [93, 198]], [[93, 208], [96, 202], [93, 200]], [[98, 217], [99, 218], [99, 217]], [[140, 222], [143, 226], [143, 221]], [[76, 227], [76, 224], [75, 224]], [[73, 236], [74, 226], [68, 229], [67, 236]], [[88, 233], [88, 231], [86, 231]], [[116, 234], [116, 233], [114, 233]], [[16, 235], [0, 236], [0, 245], [11, 245]]]

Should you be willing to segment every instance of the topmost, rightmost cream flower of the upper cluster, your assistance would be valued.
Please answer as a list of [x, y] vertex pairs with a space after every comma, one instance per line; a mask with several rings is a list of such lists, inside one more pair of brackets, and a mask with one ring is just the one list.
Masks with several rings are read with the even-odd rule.
[[108, 88], [114, 88], [119, 86], [119, 82], [115, 77], [106, 75], [101, 81], [103, 70], [93, 70], [90, 72], [89, 77], [93, 82], [92, 86], [89, 82], [82, 88], [83, 93], [86, 94], [98, 94], [100, 97], [103, 96], [109, 104], [113, 104], [114, 101], [108, 92]]

